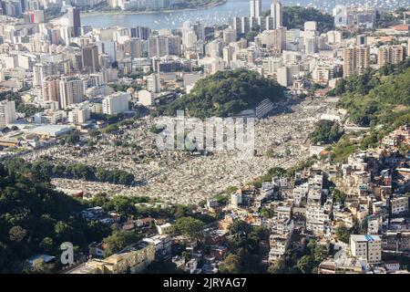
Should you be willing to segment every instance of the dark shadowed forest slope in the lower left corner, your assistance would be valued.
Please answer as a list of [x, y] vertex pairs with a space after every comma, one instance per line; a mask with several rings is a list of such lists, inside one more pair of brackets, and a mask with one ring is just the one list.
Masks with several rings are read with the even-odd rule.
[[82, 203], [53, 190], [37, 172], [0, 164], [0, 186], [0, 272], [30, 271], [27, 258], [57, 255], [63, 242], [86, 251], [110, 232], [83, 219]]

